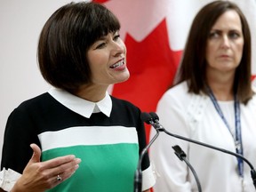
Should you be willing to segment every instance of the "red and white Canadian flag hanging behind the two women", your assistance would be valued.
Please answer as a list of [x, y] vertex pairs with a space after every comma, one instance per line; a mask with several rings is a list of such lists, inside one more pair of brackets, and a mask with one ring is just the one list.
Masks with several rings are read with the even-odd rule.
[[[129, 100], [141, 111], [156, 111], [156, 104], [172, 85], [196, 12], [212, 0], [97, 0], [121, 22], [131, 77], [109, 92]], [[234, 0], [252, 30], [252, 79], [256, 75], [256, 1]], [[256, 80], [256, 79], [255, 79]], [[254, 81], [255, 81], [254, 80]], [[147, 127], [147, 136], [149, 127]]]

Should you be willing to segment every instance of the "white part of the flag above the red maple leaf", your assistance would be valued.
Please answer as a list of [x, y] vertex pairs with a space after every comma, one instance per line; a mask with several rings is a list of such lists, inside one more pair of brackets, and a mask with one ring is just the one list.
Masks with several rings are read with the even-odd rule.
[[140, 42], [165, 19], [167, 42], [175, 51], [183, 49], [190, 22], [202, 4], [205, 3], [201, 0], [186, 0], [186, 4], [177, 0], [109, 0], [105, 3], [120, 20], [123, 39], [129, 34]]

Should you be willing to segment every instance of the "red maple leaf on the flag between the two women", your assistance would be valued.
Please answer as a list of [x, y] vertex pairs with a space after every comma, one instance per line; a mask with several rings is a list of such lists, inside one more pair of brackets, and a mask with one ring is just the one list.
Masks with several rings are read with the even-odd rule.
[[[141, 42], [127, 34], [125, 44], [131, 76], [126, 82], [115, 84], [112, 95], [131, 101], [142, 111], [156, 111], [158, 100], [172, 84], [181, 51], [170, 49], [165, 20]], [[147, 138], [148, 134], [149, 131]]]

